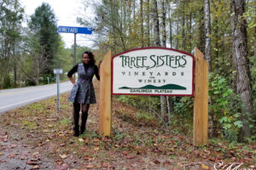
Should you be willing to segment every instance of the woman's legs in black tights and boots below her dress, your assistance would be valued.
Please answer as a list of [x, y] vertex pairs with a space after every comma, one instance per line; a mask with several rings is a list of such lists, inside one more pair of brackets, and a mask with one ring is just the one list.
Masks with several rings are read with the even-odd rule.
[[[81, 105], [79, 103], [73, 103], [73, 130], [75, 135], [79, 135], [79, 112], [80, 112]], [[90, 104], [82, 104], [82, 122], [80, 127], [80, 133], [84, 133], [85, 126], [87, 122], [88, 117], [88, 111], [89, 111]]]

